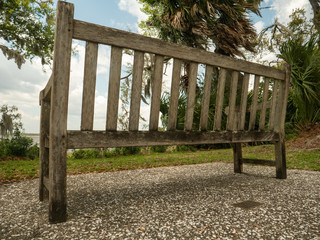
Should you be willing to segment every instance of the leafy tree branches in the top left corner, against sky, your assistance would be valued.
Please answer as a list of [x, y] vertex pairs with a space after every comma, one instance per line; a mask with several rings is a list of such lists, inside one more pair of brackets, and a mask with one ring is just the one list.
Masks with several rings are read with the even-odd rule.
[[53, 1], [1, 0], [0, 44], [8, 60], [19, 68], [26, 59], [40, 57], [43, 65], [52, 60], [54, 42]]

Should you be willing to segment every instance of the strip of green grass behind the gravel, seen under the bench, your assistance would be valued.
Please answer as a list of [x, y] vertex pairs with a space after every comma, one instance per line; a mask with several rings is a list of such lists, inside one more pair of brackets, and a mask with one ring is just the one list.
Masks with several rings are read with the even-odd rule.
[[[246, 158], [274, 160], [274, 146], [263, 145], [244, 147], [243, 156]], [[68, 158], [67, 172], [68, 174], [79, 174], [88, 172], [120, 171], [208, 162], [232, 162], [232, 159], [231, 149], [152, 153], [97, 159]], [[320, 171], [320, 149], [287, 150], [287, 167], [289, 169]], [[38, 160], [0, 161], [0, 182], [37, 178], [38, 172]]]

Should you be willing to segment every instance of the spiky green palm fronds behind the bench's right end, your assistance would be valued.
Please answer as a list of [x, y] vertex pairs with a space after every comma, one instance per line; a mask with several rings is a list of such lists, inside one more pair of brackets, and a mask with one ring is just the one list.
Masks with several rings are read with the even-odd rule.
[[280, 48], [280, 58], [291, 64], [288, 113], [302, 124], [320, 121], [320, 50], [313, 36], [289, 39]]

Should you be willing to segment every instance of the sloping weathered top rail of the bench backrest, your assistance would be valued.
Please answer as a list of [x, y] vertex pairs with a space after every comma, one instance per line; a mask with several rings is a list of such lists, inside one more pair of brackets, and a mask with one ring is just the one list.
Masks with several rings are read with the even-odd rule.
[[285, 71], [136, 33], [74, 20], [73, 38], [285, 80]]

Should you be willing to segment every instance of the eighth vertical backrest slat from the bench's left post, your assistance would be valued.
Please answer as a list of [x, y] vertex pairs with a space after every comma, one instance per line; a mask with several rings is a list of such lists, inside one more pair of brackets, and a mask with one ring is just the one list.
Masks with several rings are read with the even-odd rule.
[[222, 107], [223, 107], [223, 97], [224, 97], [224, 87], [226, 84], [226, 74], [227, 71], [224, 68], [220, 69], [219, 79], [218, 79], [218, 89], [216, 97], [216, 108], [214, 115], [214, 130], [219, 131], [221, 129], [221, 118], [222, 118]]

